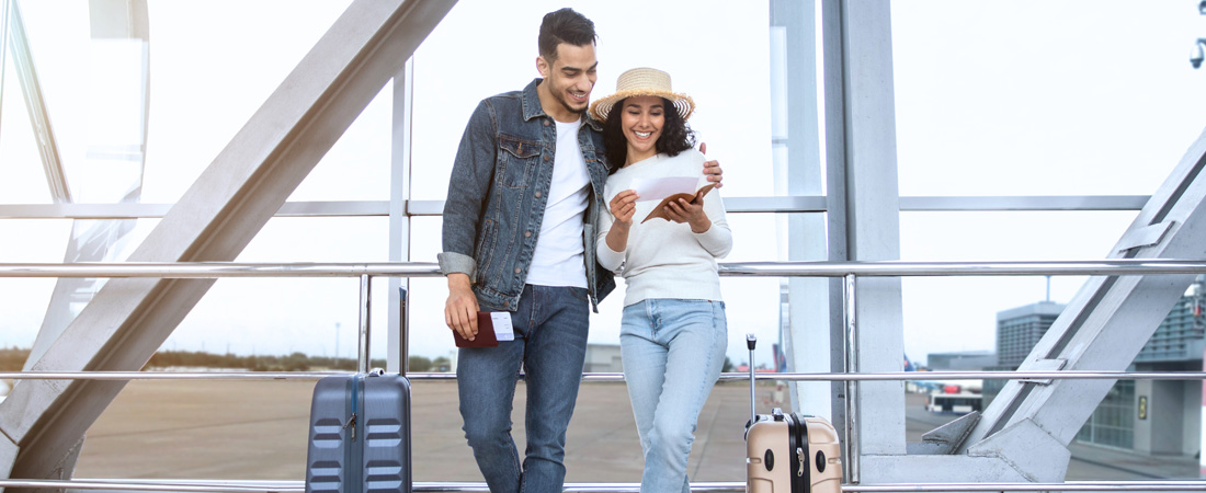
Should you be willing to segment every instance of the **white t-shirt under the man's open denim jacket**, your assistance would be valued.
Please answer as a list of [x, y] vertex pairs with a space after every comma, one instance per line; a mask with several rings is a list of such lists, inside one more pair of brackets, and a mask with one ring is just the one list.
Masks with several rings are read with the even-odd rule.
[[528, 268], [528, 284], [586, 287], [582, 259], [582, 216], [590, 198], [591, 175], [578, 145], [581, 122], [557, 122], [552, 186], [540, 222], [540, 236]]

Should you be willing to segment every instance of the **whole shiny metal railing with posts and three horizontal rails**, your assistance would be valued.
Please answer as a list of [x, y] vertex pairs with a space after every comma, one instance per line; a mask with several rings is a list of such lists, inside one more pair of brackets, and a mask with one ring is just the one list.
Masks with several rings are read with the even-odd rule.
[[[857, 321], [855, 319], [857, 277], [909, 277], [909, 276], [1134, 276], [1134, 275], [1190, 275], [1206, 274], [1206, 262], [1184, 259], [1118, 259], [1118, 260], [1065, 260], [1065, 262], [755, 262], [722, 263], [721, 276], [756, 277], [842, 277], [845, 362], [843, 372], [789, 372], [760, 375], [759, 380], [780, 381], [844, 381], [847, 395], [856, 395], [862, 381], [908, 380], [1204, 380], [1202, 372], [1159, 371], [931, 371], [917, 372], [859, 372]], [[373, 277], [439, 277], [434, 263], [86, 263], [86, 264], [0, 264], [0, 277], [156, 277], [156, 278], [221, 278], [221, 277], [359, 277], [359, 345], [357, 370], [369, 370], [369, 311], [371, 307]], [[405, 301], [403, 301], [403, 309]], [[405, 340], [405, 317], [402, 319]], [[405, 352], [402, 353], [405, 359]], [[404, 363], [403, 363], [404, 364]], [[323, 376], [346, 372], [171, 372], [150, 374], [141, 371], [21, 371], [0, 372], [8, 380], [317, 380]], [[455, 374], [410, 374], [411, 380], [456, 380]], [[521, 375], [522, 377], [522, 375]], [[624, 381], [622, 374], [584, 374], [584, 381]], [[722, 374], [721, 381], [748, 380], [745, 374]], [[847, 448], [847, 465], [851, 485], [843, 485], [845, 492], [953, 492], [953, 491], [1206, 491], [1206, 481], [1103, 481], [1064, 483], [879, 483], [859, 485], [859, 453], [856, 423], [859, 406], [854, 399], [845, 399], [845, 428], [843, 438]], [[181, 481], [137, 482], [118, 480], [35, 481], [0, 480], [0, 488], [46, 489], [130, 489], [130, 491], [187, 491], [187, 492], [292, 492], [304, 489], [304, 485], [289, 482], [238, 483], [233, 481]], [[692, 483], [692, 491], [730, 492], [744, 491], [744, 483], [715, 482]], [[488, 491], [485, 483], [423, 483], [416, 482], [415, 491]], [[567, 485], [567, 492], [627, 492], [639, 491], [632, 483]]]

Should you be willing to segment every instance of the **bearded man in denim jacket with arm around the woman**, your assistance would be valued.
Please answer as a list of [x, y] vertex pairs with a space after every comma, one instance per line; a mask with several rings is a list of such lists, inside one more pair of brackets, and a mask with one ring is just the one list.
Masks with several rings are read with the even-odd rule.
[[[595, 88], [595, 24], [570, 8], [544, 16], [537, 70], [517, 92], [474, 110], [444, 205], [444, 316], [467, 340], [478, 311], [510, 316], [514, 341], [462, 347], [457, 383], [464, 433], [491, 492], [561, 492], [566, 428], [586, 356], [587, 304], [615, 288], [595, 260], [604, 210], [602, 125], [586, 116]], [[709, 180], [720, 168], [707, 163]], [[719, 184], [718, 184], [719, 186]], [[511, 439], [520, 366], [527, 451]]]

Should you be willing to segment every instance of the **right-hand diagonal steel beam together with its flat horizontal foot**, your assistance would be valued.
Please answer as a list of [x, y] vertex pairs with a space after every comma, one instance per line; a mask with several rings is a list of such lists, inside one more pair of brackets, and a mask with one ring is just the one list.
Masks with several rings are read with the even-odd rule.
[[[1206, 254], [1206, 133], [1107, 256], [1202, 258]], [[1023, 371], [1123, 370], [1142, 350], [1195, 275], [1091, 277], [1035, 347]], [[862, 481], [1060, 482], [1067, 445], [1114, 381], [1009, 381], [953, 454], [911, 447], [865, 454]]]

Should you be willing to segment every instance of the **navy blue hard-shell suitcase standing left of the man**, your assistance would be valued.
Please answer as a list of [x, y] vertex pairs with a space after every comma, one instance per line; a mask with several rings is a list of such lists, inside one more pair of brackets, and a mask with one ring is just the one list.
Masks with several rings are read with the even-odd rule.
[[318, 380], [310, 404], [306, 493], [410, 493], [410, 381], [398, 374]]

